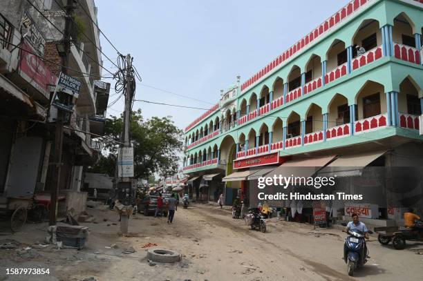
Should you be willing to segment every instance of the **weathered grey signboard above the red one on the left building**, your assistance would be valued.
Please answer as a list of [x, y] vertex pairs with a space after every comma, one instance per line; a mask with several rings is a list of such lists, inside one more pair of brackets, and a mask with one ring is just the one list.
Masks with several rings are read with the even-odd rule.
[[46, 39], [35, 21], [30, 17], [27, 11], [23, 12], [21, 20], [21, 32], [23, 39], [35, 50], [37, 55], [44, 57], [44, 46], [46, 46]]

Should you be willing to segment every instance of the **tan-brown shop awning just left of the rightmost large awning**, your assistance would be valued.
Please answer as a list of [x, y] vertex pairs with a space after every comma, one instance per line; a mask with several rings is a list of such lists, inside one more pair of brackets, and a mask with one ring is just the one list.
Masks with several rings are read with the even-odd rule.
[[278, 168], [274, 169], [271, 173], [268, 173], [266, 177], [273, 177], [274, 175], [282, 175], [284, 177], [311, 177], [321, 169], [330, 163], [336, 156], [321, 156], [312, 157], [308, 159], [296, 159], [283, 163]]

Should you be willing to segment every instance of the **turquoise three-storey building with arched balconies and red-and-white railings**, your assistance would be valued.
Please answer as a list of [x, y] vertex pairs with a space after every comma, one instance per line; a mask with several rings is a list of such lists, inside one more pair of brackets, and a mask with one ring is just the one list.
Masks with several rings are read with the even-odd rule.
[[185, 128], [194, 197], [203, 182], [232, 204], [256, 167], [287, 160], [373, 153], [377, 166], [422, 166], [422, 2], [351, 1], [229, 88]]

